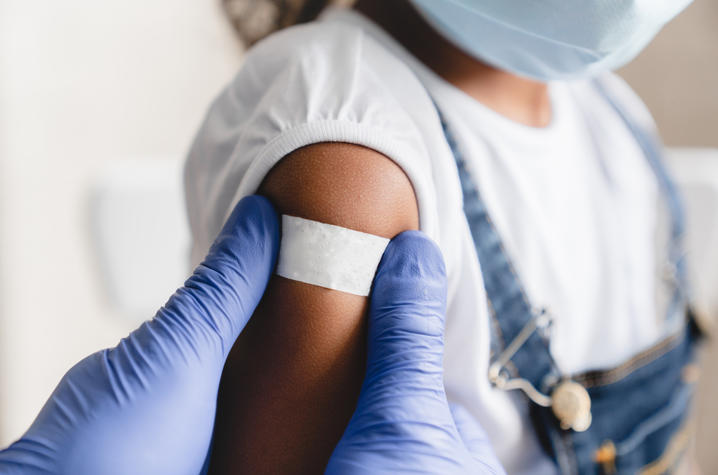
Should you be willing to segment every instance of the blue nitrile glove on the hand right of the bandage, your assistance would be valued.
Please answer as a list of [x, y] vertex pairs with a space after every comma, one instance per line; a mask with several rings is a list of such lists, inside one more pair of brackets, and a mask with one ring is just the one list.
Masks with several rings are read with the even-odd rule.
[[328, 474], [503, 474], [484, 431], [446, 400], [446, 276], [419, 232], [394, 238], [369, 304], [366, 379]]

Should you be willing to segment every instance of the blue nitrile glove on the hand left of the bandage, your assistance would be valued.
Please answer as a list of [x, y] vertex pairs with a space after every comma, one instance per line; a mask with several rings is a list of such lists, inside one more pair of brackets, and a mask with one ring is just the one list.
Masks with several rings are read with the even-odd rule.
[[243, 199], [151, 321], [68, 371], [27, 433], [0, 452], [0, 473], [199, 473], [222, 368], [264, 293], [278, 243], [269, 201]]

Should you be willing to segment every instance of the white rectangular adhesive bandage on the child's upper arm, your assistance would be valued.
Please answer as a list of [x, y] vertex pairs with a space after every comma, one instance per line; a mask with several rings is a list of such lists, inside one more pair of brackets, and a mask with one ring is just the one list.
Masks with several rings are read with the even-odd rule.
[[373, 234], [282, 215], [277, 274], [355, 295], [369, 295], [389, 240]]

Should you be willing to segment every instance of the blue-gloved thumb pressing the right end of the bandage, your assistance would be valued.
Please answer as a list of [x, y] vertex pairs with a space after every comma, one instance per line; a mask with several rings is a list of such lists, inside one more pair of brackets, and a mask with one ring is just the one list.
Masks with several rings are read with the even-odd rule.
[[453, 425], [443, 386], [446, 272], [418, 231], [387, 246], [369, 304], [367, 370], [345, 437], [383, 421]]

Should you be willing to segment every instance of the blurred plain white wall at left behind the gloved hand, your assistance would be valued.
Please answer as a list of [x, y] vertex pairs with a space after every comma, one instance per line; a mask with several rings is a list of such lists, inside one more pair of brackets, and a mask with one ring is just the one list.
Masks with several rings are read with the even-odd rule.
[[91, 252], [96, 174], [181, 160], [240, 54], [215, 0], [0, 0], [0, 446], [134, 325]]

